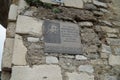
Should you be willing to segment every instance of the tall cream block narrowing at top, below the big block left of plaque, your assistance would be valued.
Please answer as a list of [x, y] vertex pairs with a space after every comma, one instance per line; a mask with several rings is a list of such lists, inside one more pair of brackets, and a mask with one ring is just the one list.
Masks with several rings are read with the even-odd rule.
[[26, 59], [25, 59], [26, 53], [27, 53], [27, 48], [23, 44], [22, 37], [16, 34], [12, 64], [26, 65]]

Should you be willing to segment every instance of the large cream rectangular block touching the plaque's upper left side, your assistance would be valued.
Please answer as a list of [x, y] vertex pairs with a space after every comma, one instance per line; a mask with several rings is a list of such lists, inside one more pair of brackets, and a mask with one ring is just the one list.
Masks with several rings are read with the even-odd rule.
[[42, 20], [38, 21], [32, 17], [19, 15], [17, 20], [16, 33], [41, 36], [42, 24]]

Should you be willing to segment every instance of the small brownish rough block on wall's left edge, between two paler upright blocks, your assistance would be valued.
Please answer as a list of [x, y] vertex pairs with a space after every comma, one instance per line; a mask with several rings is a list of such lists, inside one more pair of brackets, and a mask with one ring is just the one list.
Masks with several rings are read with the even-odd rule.
[[15, 28], [16, 28], [16, 23], [14, 22], [9, 22], [7, 31], [6, 31], [6, 36], [8, 38], [14, 38], [15, 37]]

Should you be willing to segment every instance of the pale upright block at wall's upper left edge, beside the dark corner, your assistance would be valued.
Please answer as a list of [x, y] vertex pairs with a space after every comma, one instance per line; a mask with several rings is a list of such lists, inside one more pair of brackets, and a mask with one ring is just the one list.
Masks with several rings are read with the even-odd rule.
[[11, 21], [16, 20], [16, 18], [17, 18], [17, 9], [18, 9], [17, 5], [11, 4], [10, 10], [9, 10], [9, 16], [8, 16], [9, 20], [11, 20]]

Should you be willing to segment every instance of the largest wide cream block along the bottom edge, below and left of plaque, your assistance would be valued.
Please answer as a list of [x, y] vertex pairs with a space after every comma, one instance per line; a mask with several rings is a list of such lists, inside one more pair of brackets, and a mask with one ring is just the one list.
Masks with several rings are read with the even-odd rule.
[[62, 80], [62, 75], [57, 65], [14, 66], [10, 80]]

